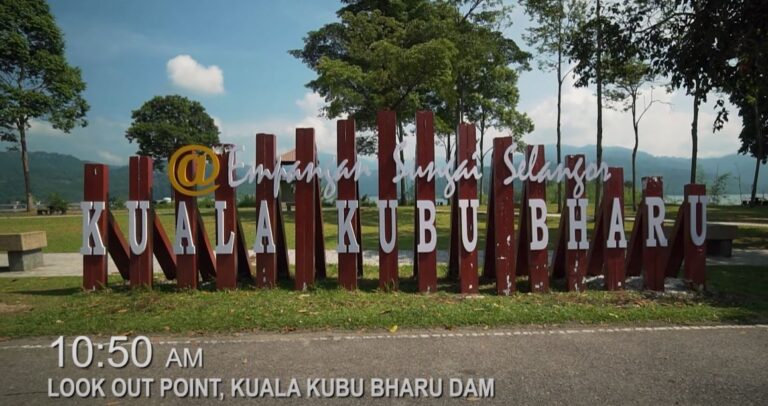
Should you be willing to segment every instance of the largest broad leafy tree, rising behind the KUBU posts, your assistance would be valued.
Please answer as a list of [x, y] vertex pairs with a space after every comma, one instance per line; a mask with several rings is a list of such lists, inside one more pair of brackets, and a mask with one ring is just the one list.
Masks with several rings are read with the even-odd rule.
[[[478, 95], [487, 88], [482, 86], [481, 72], [508, 70], [496, 74], [505, 82], [488, 99], [515, 108], [517, 74], [508, 65], [527, 59], [527, 54], [495, 29], [506, 10], [500, 2], [345, 0], [344, 4], [337, 13], [339, 22], [311, 31], [304, 48], [290, 51], [317, 72], [307, 86], [328, 101], [324, 110], [328, 118], [348, 113], [359, 128], [373, 130], [378, 110], [393, 110], [402, 141], [416, 111], [430, 108], [448, 159], [453, 152], [450, 134], [464, 117], [480, 110]], [[510, 85], [514, 93], [499, 90]], [[485, 110], [493, 116], [489, 123], [517, 123], [496, 115], [508, 109]], [[363, 136], [360, 141], [360, 153], [375, 152], [375, 137]], [[404, 182], [400, 190], [402, 199]]]

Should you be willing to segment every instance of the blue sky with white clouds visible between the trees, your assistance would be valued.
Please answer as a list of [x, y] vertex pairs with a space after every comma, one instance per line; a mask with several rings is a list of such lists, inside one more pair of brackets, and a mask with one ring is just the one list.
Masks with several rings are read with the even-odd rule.
[[[124, 164], [136, 151], [125, 129], [131, 110], [155, 95], [182, 94], [200, 101], [221, 129], [223, 141], [253, 151], [253, 135], [272, 132], [280, 151], [292, 148], [293, 128], [313, 126], [321, 150], [333, 153], [335, 126], [318, 117], [323, 100], [304, 85], [314, 73], [288, 55], [304, 35], [335, 20], [338, 1], [97, 1], [54, 0], [53, 14], [65, 34], [67, 57], [88, 85], [89, 126], [63, 135], [42, 122], [30, 131], [30, 149]], [[507, 35], [526, 47], [528, 18], [517, 9]], [[535, 66], [535, 64], [533, 64]], [[592, 89], [564, 89], [563, 142], [594, 143]], [[529, 143], [554, 143], [554, 74], [536, 69], [520, 79], [520, 110], [536, 130]], [[640, 149], [654, 155], [690, 156], [691, 99], [659, 87], [656, 104], [641, 123]], [[711, 105], [700, 116], [700, 156], [738, 149], [738, 123], [713, 134]], [[734, 115], [733, 119], [738, 121]], [[631, 148], [630, 117], [605, 113], [605, 145]], [[493, 135], [500, 134], [494, 132]], [[439, 149], [438, 149], [439, 150]]]

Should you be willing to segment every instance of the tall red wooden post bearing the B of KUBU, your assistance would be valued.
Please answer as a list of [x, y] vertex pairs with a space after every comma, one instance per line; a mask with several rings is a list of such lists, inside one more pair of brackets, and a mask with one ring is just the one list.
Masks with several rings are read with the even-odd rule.
[[[431, 111], [416, 113], [416, 169], [426, 171], [435, 163], [434, 114]], [[435, 179], [419, 176], [416, 188], [416, 233], [414, 242], [416, 260], [414, 271], [417, 273], [419, 292], [437, 290], [437, 211], [435, 208]], [[424, 231], [421, 232], [421, 228]], [[422, 241], [422, 234], [424, 241]], [[432, 244], [434, 243], [434, 246]], [[422, 249], [419, 247], [422, 246]]]

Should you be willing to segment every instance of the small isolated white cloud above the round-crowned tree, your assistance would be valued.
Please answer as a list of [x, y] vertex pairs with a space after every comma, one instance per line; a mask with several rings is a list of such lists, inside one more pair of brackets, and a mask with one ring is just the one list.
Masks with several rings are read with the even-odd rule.
[[203, 66], [189, 55], [178, 55], [166, 64], [174, 85], [199, 93], [224, 93], [224, 73], [216, 65]]

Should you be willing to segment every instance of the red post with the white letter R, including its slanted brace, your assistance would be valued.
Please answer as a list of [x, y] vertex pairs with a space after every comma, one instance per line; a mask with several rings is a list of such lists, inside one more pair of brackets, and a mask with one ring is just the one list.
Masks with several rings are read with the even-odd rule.
[[664, 183], [660, 176], [643, 177], [643, 197], [635, 214], [625, 269], [628, 276], [643, 275], [646, 289], [664, 290], [667, 238], [664, 235]]

